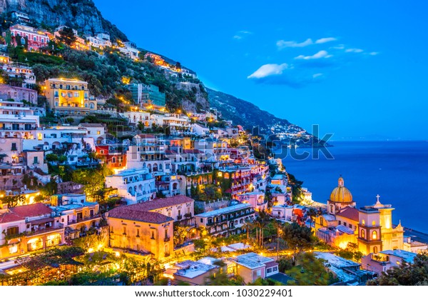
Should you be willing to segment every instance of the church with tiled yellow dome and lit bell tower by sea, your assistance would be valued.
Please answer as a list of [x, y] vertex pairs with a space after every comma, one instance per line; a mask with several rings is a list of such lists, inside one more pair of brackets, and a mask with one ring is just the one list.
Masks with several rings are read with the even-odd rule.
[[327, 214], [315, 219], [315, 235], [332, 246], [342, 249], [348, 243], [358, 245], [362, 254], [403, 249], [404, 229], [401, 223], [392, 225], [390, 204], [377, 201], [372, 206], [356, 208], [352, 194], [339, 178], [337, 187], [327, 201]]

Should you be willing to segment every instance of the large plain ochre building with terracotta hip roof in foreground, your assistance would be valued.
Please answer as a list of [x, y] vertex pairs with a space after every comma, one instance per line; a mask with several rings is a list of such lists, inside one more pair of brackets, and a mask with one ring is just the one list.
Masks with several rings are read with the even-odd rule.
[[138, 207], [138, 204], [120, 206], [108, 212], [111, 248], [151, 254], [155, 259], [170, 256], [174, 219]]

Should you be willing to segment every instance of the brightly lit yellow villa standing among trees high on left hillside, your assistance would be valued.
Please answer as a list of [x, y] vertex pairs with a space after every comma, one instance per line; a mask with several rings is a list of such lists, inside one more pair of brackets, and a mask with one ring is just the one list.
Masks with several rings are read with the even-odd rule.
[[57, 114], [85, 115], [96, 110], [88, 83], [77, 79], [51, 78], [45, 81], [45, 96], [49, 107]]

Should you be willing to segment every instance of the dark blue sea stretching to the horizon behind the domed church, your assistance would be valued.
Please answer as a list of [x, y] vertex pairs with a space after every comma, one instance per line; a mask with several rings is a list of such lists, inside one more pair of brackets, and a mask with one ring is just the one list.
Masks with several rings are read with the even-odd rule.
[[[337, 141], [327, 148], [334, 159], [297, 161], [287, 154], [287, 171], [304, 181], [312, 199], [326, 203], [342, 174], [357, 207], [392, 204], [392, 221], [428, 232], [428, 141]], [[298, 149], [311, 151], [311, 149]], [[316, 149], [315, 149], [316, 151]], [[286, 154], [282, 154], [284, 157]]]

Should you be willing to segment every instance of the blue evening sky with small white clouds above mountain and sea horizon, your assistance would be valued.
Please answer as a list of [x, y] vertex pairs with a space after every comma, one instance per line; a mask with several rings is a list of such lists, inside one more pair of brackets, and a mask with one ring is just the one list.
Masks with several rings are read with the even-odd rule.
[[206, 86], [333, 139], [428, 139], [426, 1], [94, 0]]

